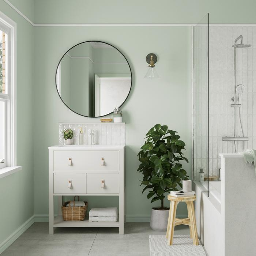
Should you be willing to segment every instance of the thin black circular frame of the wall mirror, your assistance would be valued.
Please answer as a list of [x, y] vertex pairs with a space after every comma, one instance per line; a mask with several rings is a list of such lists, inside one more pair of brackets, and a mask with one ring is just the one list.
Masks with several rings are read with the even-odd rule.
[[[124, 102], [125, 102], [125, 101], [127, 100], [128, 96], [129, 96], [130, 92], [131, 92], [131, 89], [132, 89], [132, 70], [131, 70], [131, 66], [130, 66], [128, 60], [126, 59], [126, 57], [124, 56], [124, 54], [123, 54], [119, 49], [117, 49], [115, 46], [113, 46], [113, 45], [111, 45], [111, 44], [109, 44], [109, 43], [106, 43], [106, 42], [98, 41], [98, 40], [90, 40], [90, 41], [81, 42], [81, 43], [79, 43], [79, 44], [76, 44], [76, 45], [72, 46], [70, 49], [67, 50], [67, 52], [69, 52], [72, 48], [74, 48], [74, 47], [76, 47], [76, 46], [78, 46], [78, 45], [80, 45], [80, 44], [89, 43], [89, 42], [100, 42], [100, 43], [103, 43], [103, 44], [110, 45], [110, 46], [112, 46], [113, 48], [115, 48], [116, 50], [118, 50], [118, 52], [120, 52], [120, 53], [123, 55], [124, 59], [127, 61], [127, 64], [128, 64], [128, 66], [129, 66], [129, 69], [130, 69], [130, 72], [131, 72], [131, 87], [130, 87], [129, 93], [127, 94], [127, 97], [126, 97], [125, 100], [124, 100]], [[69, 106], [67, 106], [67, 104], [66, 104], [66, 103], [63, 101], [63, 99], [61, 98], [61, 96], [60, 96], [60, 94], [59, 94], [59, 91], [58, 91], [58, 87], [57, 87], [57, 70], [58, 70], [58, 67], [59, 67], [59, 65], [60, 65], [61, 60], [63, 59], [63, 57], [66, 55], [67, 52], [65, 52], [65, 53], [63, 54], [63, 56], [61, 57], [61, 59], [60, 59], [58, 65], [57, 65], [57, 68], [56, 68], [56, 72], [55, 72], [55, 86], [56, 86], [56, 90], [57, 90], [57, 93], [58, 93], [58, 95], [59, 95], [61, 101], [64, 103], [64, 105], [65, 105], [68, 109], [70, 109], [72, 112], [78, 114], [79, 116], [84, 116], [83, 114], [79, 114], [79, 113], [75, 112], [74, 110], [72, 110], [71, 108], [69, 108]], [[123, 106], [124, 102], [119, 106], [119, 108], [120, 108], [121, 106]], [[110, 113], [108, 113], [108, 114], [105, 114], [105, 115], [103, 115], [103, 116], [108, 116], [109, 114], [112, 114], [112, 113], [113, 113], [113, 111], [110, 112]], [[84, 117], [99, 118], [99, 117], [103, 117], [103, 116], [84, 116]]]

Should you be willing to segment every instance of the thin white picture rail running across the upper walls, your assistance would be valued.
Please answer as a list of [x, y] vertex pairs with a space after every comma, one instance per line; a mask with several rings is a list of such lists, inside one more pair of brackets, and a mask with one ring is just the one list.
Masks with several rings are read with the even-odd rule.
[[[10, 1], [3, 0], [34, 27], [194, 27], [196, 23], [34, 23]], [[202, 24], [203, 25], [203, 24]], [[256, 23], [211, 23], [210, 27], [255, 27]]]

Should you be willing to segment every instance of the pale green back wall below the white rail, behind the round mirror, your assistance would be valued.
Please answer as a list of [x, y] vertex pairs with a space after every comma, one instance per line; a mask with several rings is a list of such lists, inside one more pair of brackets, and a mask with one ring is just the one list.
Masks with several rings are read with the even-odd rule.
[[[120, 37], [120, 34], [122, 36]], [[154, 40], [151, 40], [154, 35]], [[148, 129], [154, 124], [168, 125], [187, 143], [185, 152], [191, 175], [191, 28], [189, 27], [36, 27], [34, 50], [34, 176], [35, 214], [48, 214], [48, 150], [58, 144], [58, 122], [93, 122], [67, 109], [57, 95], [55, 70], [62, 54], [78, 42], [94, 38], [110, 42], [127, 57], [133, 75], [132, 90], [123, 105], [127, 123], [126, 214], [149, 217], [151, 204], [141, 195], [141, 175], [136, 172], [137, 154]], [[131, 40], [136, 38], [136, 40]], [[179, 40], [174, 40], [178, 38]], [[146, 80], [145, 57], [154, 52], [160, 79]], [[38, 136], [50, 131], [47, 136]], [[90, 199], [91, 200], [91, 199]], [[90, 202], [90, 201], [89, 201]], [[179, 207], [179, 213], [182, 213]], [[132, 218], [134, 217], [134, 218]]]

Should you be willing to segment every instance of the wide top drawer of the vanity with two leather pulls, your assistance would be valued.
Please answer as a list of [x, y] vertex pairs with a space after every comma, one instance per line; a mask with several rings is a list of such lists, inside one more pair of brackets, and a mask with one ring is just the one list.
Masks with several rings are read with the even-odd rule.
[[53, 171], [118, 172], [119, 151], [53, 151]]

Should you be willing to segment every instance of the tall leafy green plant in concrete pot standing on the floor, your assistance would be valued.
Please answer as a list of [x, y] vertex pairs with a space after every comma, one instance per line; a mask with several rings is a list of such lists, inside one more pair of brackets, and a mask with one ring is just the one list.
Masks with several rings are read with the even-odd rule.
[[180, 163], [182, 160], [188, 162], [182, 153], [185, 143], [176, 133], [167, 125], [156, 124], [146, 134], [147, 140], [138, 154], [141, 163], [137, 171], [143, 174], [140, 185], [146, 186], [142, 193], [148, 189], [147, 198], [151, 198], [151, 203], [161, 201], [161, 206], [151, 210], [150, 227], [157, 231], [167, 228], [169, 207], [163, 204], [165, 194], [177, 191], [178, 185], [182, 187], [181, 181], [188, 180]]

